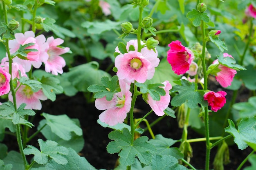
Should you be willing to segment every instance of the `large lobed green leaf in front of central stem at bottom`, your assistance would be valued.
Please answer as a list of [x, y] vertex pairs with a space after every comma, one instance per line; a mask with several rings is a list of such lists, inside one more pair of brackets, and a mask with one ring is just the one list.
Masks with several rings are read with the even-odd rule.
[[135, 157], [138, 157], [141, 163], [149, 165], [151, 163], [151, 154], [156, 152], [155, 146], [149, 144], [148, 137], [142, 136], [131, 144], [131, 137], [129, 130], [124, 128], [122, 132], [119, 130], [112, 131], [108, 134], [111, 141], [107, 150], [109, 153], [118, 153], [119, 152], [119, 161], [124, 166], [130, 166], [134, 164]]

